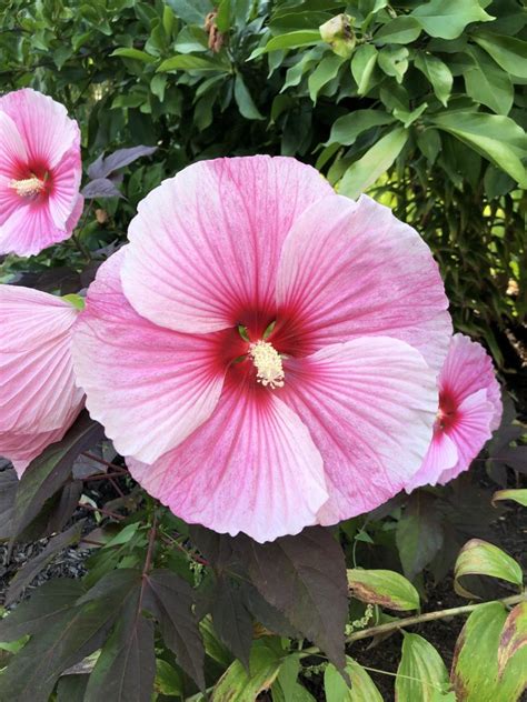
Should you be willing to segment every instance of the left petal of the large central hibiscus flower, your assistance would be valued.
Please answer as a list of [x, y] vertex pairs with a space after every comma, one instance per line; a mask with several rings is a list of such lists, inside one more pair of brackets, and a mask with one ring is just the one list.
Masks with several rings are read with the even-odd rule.
[[90, 285], [73, 362], [87, 408], [116, 449], [152, 462], [210, 417], [226, 368], [216, 362], [216, 334], [180, 334], [137, 314], [121, 289], [126, 254], [128, 247], [108, 259]]

